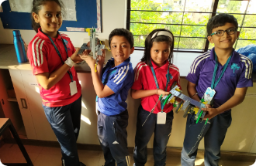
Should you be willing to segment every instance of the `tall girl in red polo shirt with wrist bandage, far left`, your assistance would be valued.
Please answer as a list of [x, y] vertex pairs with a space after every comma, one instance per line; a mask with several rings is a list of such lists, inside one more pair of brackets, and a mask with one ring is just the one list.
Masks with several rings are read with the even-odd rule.
[[40, 86], [43, 110], [61, 145], [65, 166], [79, 162], [76, 141], [81, 120], [81, 86], [74, 63], [82, 61], [71, 40], [58, 32], [62, 24], [60, 0], [33, 0], [32, 22], [36, 36], [28, 57]]

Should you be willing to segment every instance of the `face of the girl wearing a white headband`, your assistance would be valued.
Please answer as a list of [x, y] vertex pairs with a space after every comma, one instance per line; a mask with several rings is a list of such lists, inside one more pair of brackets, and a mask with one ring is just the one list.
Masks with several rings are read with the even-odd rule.
[[154, 63], [161, 67], [165, 64], [170, 55], [171, 47], [168, 42], [153, 42], [150, 49], [150, 56]]

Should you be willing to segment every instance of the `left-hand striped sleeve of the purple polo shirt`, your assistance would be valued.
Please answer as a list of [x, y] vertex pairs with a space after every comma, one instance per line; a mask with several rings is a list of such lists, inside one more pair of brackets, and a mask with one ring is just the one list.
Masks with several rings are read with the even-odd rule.
[[202, 59], [195, 58], [194, 62], [190, 66], [189, 74], [186, 76], [186, 80], [188, 80], [191, 83], [198, 83], [200, 70], [202, 67]]

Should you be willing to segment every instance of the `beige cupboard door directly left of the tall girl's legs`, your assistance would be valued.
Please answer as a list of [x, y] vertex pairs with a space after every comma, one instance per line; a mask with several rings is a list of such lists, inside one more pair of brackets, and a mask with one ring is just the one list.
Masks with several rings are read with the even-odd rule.
[[31, 70], [20, 70], [20, 72], [33, 117], [37, 140], [57, 141], [42, 107], [42, 98], [40, 96], [39, 86], [37, 86], [36, 76], [33, 76]]

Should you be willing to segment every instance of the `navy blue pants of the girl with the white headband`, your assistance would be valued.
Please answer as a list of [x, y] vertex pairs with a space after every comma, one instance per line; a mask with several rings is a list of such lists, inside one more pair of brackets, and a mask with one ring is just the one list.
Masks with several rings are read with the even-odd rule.
[[[137, 115], [137, 130], [133, 152], [134, 166], [144, 166], [147, 162], [147, 143], [154, 132], [154, 166], [164, 166], [166, 161], [166, 146], [171, 135], [173, 111], [166, 114], [166, 124], [157, 124], [157, 114], [151, 113], [147, 118], [147, 110], [140, 105]], [[146, 120], [144, 124], [144, 121]], [[142, 127], [142, 124], [144, 126]]]

